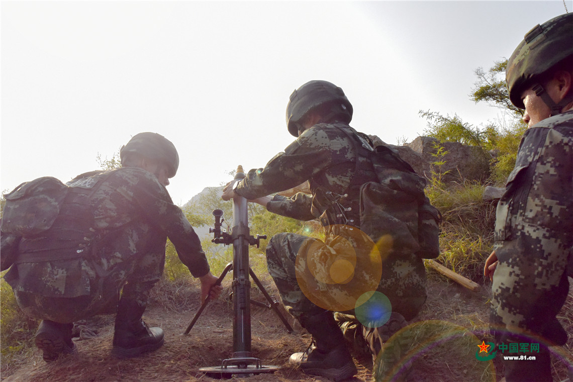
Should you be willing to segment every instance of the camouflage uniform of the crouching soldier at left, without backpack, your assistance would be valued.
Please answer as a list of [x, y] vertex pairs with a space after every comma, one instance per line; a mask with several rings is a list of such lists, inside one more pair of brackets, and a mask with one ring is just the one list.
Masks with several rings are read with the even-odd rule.
[[[22, 238], [5, 275], [29, 316], [77, 321], [115, 307], [122, 287], [122, 298], [144, 305], [162, 277], [167, 237], [195, 277], [209, 272], [197, 234], [151, 172], [94, 171], [68, 186], [52, 227], [40, 237]], [[77, 195], [88, 189], [81, 206]]]

